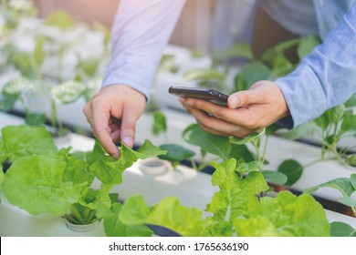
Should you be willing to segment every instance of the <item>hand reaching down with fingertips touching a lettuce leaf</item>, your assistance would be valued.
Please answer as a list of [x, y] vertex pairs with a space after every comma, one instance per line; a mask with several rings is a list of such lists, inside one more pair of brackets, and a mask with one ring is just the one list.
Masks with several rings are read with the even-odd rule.
[[103, 87], [83, 108], [83, 112], [101, 145], [113, 157], [120, 152], [114, 142], [132, 147], [135, 127], [146, 106], [146, 97], [125, 85]]

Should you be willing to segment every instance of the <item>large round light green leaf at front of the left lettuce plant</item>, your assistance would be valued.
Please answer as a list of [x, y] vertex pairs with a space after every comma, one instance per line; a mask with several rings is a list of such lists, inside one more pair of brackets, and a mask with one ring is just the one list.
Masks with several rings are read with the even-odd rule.
[[19, 158], [6, 172], [3, 192], [10, 203], [31, 214], [65, 214], [77, 202], [82, 184], [63, 181], [66, 163], [58, 158]]

